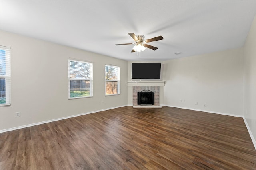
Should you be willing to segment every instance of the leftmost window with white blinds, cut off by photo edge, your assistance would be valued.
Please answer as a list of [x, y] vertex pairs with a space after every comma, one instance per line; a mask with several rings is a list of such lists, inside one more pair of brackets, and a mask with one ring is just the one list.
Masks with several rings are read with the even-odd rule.
[[11, 51], [10, 47], [0, 46], [0, 106], [10, 105], [11, 92]]

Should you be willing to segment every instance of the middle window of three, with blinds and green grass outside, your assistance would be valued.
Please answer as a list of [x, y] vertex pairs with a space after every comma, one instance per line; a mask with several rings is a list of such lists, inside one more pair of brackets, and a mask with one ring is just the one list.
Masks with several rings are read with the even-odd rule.
[[68, 59], [68, 98], [92, 97], [92, 63]]

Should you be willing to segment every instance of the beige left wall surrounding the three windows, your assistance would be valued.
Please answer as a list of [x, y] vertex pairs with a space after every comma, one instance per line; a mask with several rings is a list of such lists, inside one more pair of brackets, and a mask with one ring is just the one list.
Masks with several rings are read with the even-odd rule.
[[[128, 104], [127, 61], [4, 31], [0, 35], [1, 45], [11, 47], [12, 64], [11, 106], [0, 107], [0, 130]], [[68, 100], [68, 57], [93, 62], [92, 98]], [[104, 95], [104, 64], [120, 66], [120, 95]]]

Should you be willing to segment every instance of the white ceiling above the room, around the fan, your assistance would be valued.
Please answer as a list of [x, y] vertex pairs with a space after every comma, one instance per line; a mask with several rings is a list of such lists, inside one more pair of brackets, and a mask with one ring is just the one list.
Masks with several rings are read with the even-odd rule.
[[[0, 29], [128, 61], [163, 61], [242, 47], [256, 1], [0, 1]], [[158, 47], [131, 53], [127, 33]], [[180, 55], [174, 55], [181, 52]]]

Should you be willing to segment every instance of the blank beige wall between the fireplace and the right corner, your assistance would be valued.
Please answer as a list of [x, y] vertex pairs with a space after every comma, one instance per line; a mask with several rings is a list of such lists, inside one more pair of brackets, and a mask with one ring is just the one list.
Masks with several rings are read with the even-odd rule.
[[163, 63], [164, 105], [243, 115], [242, 49]]

